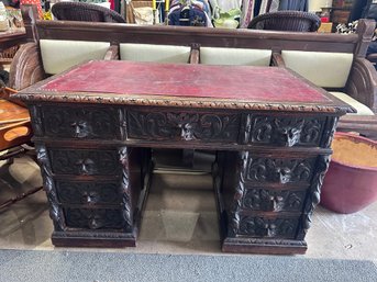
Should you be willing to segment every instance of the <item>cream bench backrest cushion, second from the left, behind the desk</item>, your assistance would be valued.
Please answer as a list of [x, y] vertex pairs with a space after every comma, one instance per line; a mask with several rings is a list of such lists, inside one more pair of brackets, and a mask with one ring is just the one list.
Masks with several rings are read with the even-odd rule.
[[154, 45], [122, 43], [120, 44], [120, 56], [122, 60], [157, 61], [187, 64], [190, 59], [190, 47], [174, 45]]

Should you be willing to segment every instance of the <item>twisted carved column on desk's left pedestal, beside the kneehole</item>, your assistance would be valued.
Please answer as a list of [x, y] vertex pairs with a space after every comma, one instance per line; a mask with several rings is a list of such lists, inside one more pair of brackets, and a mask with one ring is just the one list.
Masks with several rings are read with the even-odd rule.
[[132, 215], [132, 199], [130, 188], [130, 168], [129, 168], [129, 154], [127, 148], [122, 147], [119, 149], [120, 162], [122, 166], [122, 182], [121, 182], [121, 194], [122, 194], [122, 206], [123, 206], [123, 219], [125, 222], [125, 230], [131, 232], [133, 226]]

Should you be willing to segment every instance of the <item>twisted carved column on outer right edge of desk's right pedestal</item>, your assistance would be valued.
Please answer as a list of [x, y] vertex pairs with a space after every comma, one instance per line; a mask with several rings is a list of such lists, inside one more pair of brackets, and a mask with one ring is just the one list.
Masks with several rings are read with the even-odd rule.
[[303, 208], [302, 228], [298, 235], [299, 239], [303, 239], [308, 229], [311, 226], [311, 216], [315, 206], [321, 200], [321, 187], [324, 176], [329, 169], [331, 156], [319, 156], [317, 162], [317, 171], [309, 189], [309, 195]]

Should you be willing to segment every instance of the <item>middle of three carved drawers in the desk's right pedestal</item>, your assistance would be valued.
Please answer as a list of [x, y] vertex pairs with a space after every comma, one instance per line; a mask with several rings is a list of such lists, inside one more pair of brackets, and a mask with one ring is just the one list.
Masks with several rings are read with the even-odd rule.
[[307, 191], [245, 189], [242, 207], [264, 212], [301, 212]]

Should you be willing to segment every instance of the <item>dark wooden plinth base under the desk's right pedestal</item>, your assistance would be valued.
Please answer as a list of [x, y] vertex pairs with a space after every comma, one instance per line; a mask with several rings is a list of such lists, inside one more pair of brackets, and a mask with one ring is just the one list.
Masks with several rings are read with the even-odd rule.
[[266, 240], [257, 238], [225, 238], [222, 251], [263, 255], [303, 255], [307, 242], [300, 240]]

